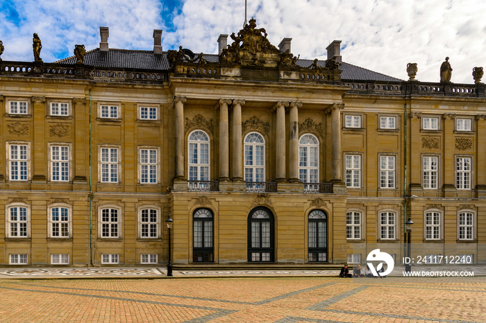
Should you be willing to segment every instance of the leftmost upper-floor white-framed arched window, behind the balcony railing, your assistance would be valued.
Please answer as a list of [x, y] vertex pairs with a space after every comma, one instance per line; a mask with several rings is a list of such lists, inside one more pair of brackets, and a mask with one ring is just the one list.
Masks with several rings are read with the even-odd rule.
[[189, 135], [189, 180], [209, 180], [209, 137], [202, 130], [194, 130]]

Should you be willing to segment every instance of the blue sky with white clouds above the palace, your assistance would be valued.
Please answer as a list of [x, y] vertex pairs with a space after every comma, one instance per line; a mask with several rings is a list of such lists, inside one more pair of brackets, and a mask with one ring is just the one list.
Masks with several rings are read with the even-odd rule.
[[[74, 55], [75, 44], [99, 47], [99, 27], [118, 49], [153, 49], [153, 29], [162, 48], [182, 45], [194, 53], [217, 53], [220, 34], [237, 33], [244, 0], [0, 0], [3, 60], [33, 61], [32, 35], [42, 40], [41, 58]], [[326, 47], [342, 40], [344, 62], [408, 79], [439, 82], [449, 57], [451, 81], [474, 82], [472, 69], [486, 65], [485, 0], [247, 0], [247, 17], [265, 28], [272, 44], [292, 38], [292, 53], [326, 59]], [[228, 38], [228, 43], [231, 39]], [[486, 80], [486, 76], [485, 76]]]

